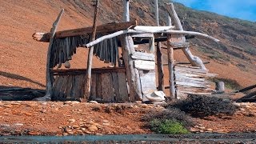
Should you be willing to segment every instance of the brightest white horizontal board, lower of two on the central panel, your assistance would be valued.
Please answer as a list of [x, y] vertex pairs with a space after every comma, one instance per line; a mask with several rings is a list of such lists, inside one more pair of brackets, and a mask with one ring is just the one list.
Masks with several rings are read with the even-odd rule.
[[154, 70], [155, 63], [152, 61], [135, 60], [134, 66], [138, 70]]

